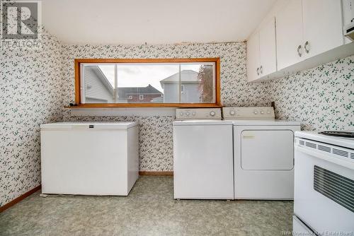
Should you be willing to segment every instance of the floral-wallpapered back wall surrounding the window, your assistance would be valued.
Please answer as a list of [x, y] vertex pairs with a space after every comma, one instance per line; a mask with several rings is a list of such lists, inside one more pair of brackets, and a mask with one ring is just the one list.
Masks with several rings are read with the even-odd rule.
[[[74, 102], [75, 58], [191, 58], [220, 57], [222, 103], [228, 106], [269, 105], [265, 83], [246, 82], [246, 43], [148, 45], [148, 46], [91, 46], [64, 45], [64, 98]], [[140, 122], [140, 170], [173, 170], [172, 122], [175, 117], [71, 117], [64, 110], [64, 119], [70, 121]]]

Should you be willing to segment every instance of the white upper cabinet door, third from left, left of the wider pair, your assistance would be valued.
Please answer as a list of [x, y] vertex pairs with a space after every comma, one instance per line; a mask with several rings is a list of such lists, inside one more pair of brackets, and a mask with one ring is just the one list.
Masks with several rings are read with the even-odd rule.
[[302, 1], [289, 1], [275, 18], [279, 71], [303, 59]]

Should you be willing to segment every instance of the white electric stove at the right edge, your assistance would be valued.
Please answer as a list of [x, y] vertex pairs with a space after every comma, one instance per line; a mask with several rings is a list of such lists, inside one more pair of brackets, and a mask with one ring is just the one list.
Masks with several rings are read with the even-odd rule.
[[295, 136], [294, 231], [353, 235], [354, 138]]

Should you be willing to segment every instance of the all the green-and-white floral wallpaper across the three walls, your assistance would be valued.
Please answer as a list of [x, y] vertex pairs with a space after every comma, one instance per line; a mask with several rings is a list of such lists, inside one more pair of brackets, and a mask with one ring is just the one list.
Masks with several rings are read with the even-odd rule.
[[45, 33], [42, 49], [1, 51], [0, 206], [40, 184], [40, 124], [139, 121], [140, 170], [173, 170], [173, 116], [74, 117], [75, 58], [220, 57], [225, 106], [275, 101], [280, 119], [302, 129], [354, 129], [354, 56], [276, 81], [247, 83], [246, 43], [63, 45]]

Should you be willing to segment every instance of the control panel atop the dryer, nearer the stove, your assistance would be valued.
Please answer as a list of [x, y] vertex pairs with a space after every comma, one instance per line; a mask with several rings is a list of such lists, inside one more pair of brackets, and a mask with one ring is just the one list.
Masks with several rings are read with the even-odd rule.
[[275, 119], [273, 107], [222, 107], [224, 119]]

